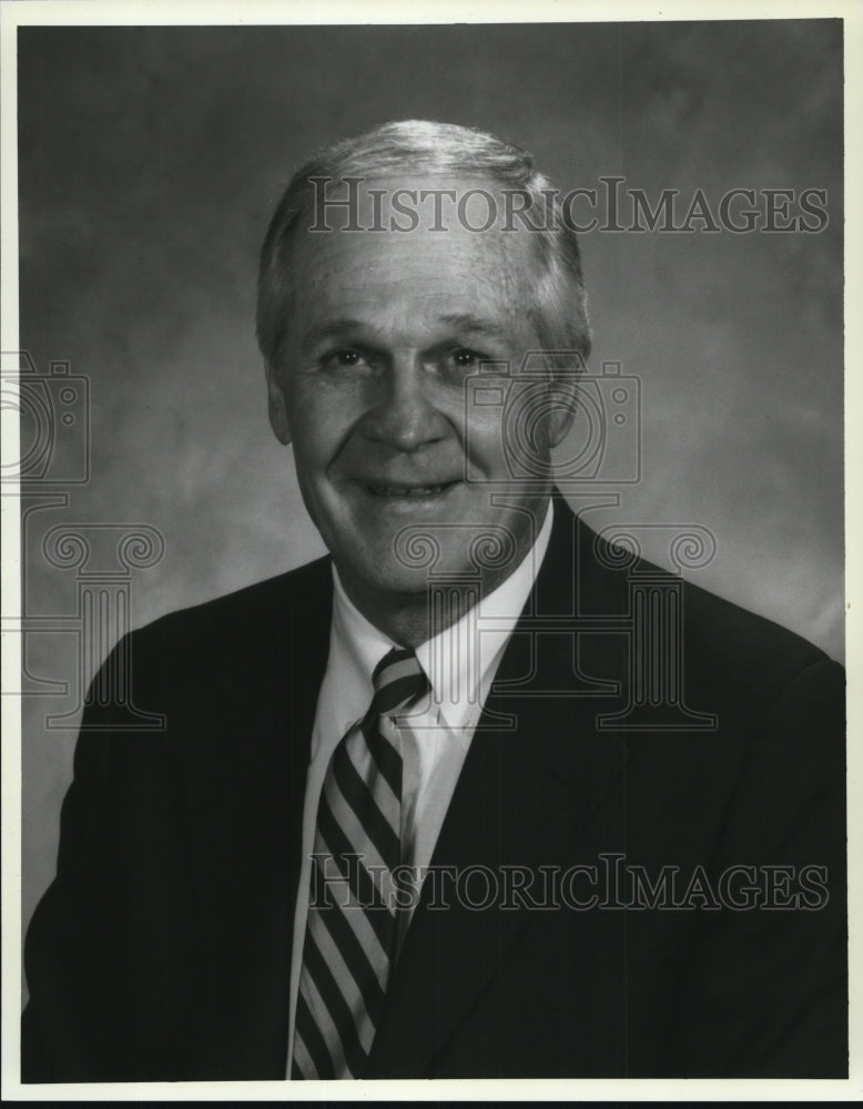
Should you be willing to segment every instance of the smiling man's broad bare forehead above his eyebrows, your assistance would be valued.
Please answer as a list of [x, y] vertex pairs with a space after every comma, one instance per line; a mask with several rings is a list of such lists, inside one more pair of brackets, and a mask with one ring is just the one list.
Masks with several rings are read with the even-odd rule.
[[[351, 208], [318, 208], [317, 227], [294, 241], [293, 301], [304, 329], [375, 322], [416, 342], [445, 324], [498, 338], [529, 329], [536, 244], [499, 225], [474, 230], [481, 227], [485, 203], [476, 190], [495, 196], [493, 182], [389, 174], [352, 189], [337, 195], [342, 202], [349, 196]], [[471, 199], [480, 208], [468, 207]]]

